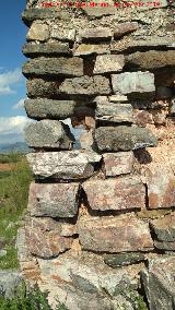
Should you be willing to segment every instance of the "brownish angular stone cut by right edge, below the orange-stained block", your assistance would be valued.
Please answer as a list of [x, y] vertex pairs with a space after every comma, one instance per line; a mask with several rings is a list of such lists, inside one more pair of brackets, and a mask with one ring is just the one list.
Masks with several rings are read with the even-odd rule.
[[175, 212], [152, 220], [151, 227], [159, 241], [175, 241]]

